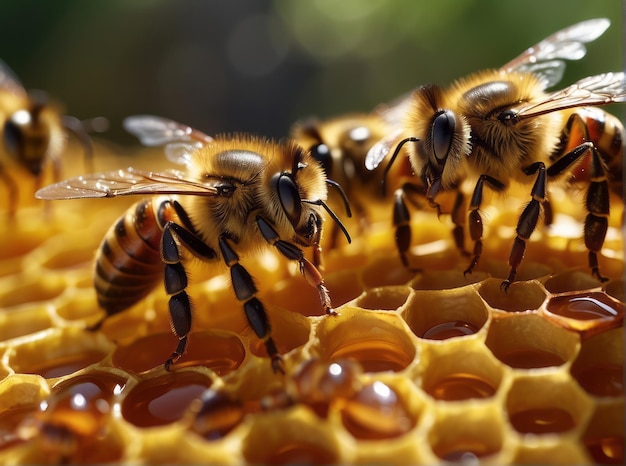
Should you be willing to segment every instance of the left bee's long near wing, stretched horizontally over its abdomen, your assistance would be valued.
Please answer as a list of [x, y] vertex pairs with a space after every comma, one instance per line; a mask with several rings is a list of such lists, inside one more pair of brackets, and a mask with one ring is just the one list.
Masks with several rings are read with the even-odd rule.
[[38, 199], [83, 199], [129, 195], [184, 194], [215, 196], [214, 186], [185, 179], [177, 170], [148, 172], [128, 168], [70, 178], [35, 193]]

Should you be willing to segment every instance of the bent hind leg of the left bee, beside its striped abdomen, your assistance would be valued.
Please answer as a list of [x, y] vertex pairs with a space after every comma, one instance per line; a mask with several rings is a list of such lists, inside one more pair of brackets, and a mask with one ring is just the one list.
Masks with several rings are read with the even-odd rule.
[[165, 369], [170, 370], [185, 352], [187, 337], [191, 330], [191, 301], [185, 291], [187, 288], [187, 272], [180, 262], [180, 251], [175, 237], [196, 257], [206, 260], [217, 258], [217, 254], [200, 238], [182, 226], [168, 221], [161, 236], [161, 258], [165, 263], [165, 291], [170, 295], [169, 310], [172, 331], [178, 337], [178, 345], [172, 355], [165, 361]]

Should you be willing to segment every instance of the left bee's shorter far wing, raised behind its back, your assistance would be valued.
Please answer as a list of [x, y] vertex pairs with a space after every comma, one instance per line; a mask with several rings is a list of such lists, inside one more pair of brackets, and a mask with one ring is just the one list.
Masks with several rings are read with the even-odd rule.
[[145, 146], [160, 146], [187, 141], [195, 141], [204, 145], [213, 140], [212, 137], [202, 131], [154, 115], [129, 116], [124, 119], [123, 125], [126, 131], [137, 136]]

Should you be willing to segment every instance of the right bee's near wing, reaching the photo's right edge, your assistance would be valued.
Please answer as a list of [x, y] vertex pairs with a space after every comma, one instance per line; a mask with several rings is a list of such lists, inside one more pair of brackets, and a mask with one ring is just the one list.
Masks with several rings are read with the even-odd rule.
[[573, 107], [626, 102], [626, 78], [623, 72], [604, 73], [583, 78], [560, 91], [513, 109], [519, 119]]

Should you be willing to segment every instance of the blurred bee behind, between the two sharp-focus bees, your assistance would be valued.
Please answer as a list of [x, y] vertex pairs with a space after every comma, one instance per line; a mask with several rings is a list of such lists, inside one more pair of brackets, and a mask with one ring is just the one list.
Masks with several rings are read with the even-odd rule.
[[[388, 196], [380, 189], [382, 173], [367, 170], [365, 157], [369, 149], [389, 132], [396, 115], [399, 115], [398, 107], [381, 105], [371, 113], [351, 113], [321, 121], [304, 120], [291, 130], [291, 137], [309, 149], [326, 175], [345, 190], [360, 230], [367, 230], [379, 220], [376, 213], [388, 205]], [[395, 164], [387, 176], [398, 187], [403, 180], [411, 180], [408, 159]], [[342, 199], [333, 201], [329, 199], [329, 205], [333, 207], [343, 202]], [[339, 229], [333, 225], [327, 247], [336, 246], [338, 235]]]

